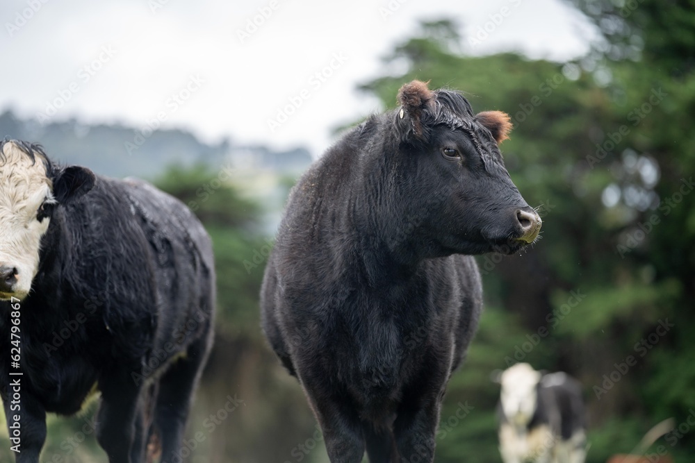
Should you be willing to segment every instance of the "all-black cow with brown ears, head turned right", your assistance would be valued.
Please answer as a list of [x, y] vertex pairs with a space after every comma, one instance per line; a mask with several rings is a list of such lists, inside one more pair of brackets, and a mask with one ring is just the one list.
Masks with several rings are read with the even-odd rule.
[[295, 185], [261, 289], [332, 462], [432, 462], [446, 383], [477, 328], [472, 254], [514, 253], [541, 219], [498, 149], [511, 124], [404, 85]]

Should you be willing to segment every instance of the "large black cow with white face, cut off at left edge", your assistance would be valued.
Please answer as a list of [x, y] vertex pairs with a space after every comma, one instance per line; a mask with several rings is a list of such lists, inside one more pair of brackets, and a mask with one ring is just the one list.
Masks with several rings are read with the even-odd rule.
[[39, 461], [47, 412], [97, 389], [110, 462], [143, 461], [153, 433], [162, 462], [180, 461], [214, 305], [210, 239], [177, 199], [0, 144], [0, 395], [17, 462]]

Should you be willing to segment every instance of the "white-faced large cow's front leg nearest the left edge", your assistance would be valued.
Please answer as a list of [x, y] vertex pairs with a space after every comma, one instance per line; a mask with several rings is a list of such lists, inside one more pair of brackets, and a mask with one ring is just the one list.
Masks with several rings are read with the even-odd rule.
[[[10, 377], [12, 378], [12, 377]], [[35, 399], [23, 391], [21, 376], [13, 385], [10, 380], [8, 394], [3, 394], [5, 418], [10, 437], [10, 448], [15, 451], [17, 463], [38, 463], [41, 448], [46, 441], [46, 411]]]

